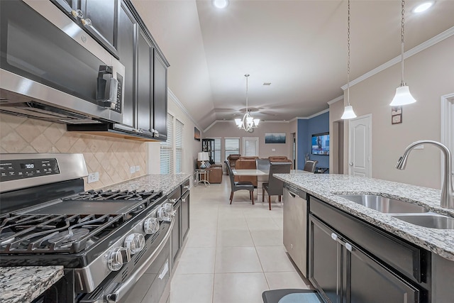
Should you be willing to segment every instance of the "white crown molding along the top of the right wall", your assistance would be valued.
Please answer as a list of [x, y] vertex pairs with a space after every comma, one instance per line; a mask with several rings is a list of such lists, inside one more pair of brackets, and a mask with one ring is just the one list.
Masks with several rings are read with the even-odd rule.
[[[433, 45], [436, 45], [437, 43], [445, 40], [446, 38], [449, 38], [451, 35], [454, 35], [454, 26], [452, 28], [448, 28], [446, 31], [443, 33], [439, 33], [433, 38], [430, 38], [429, 40], [421, 43], [420, 45], [416, 45], [414, 48], [411, 48], [411, 50], [407, 50], [404, 53], [404, 60], [408, 57], [411, 57], [412, 55], [416, 55], [417, 53], [426, 50], [427, 48], [430, 48]], [[401, 56], [397, 56], [392, 60], [389, 60], [388, 62], [380, 65], [379, 67], [375, 67], [373, 70], [370, 72], [366, 72], [364, 75], [354, 79], [353, 81], [350, 81], [350, 87], [353, 87], [353, 85], [358, 84], [362, 82], [363, 80], [372, 77], [373, 75], [378, 74], [379, 72], [382, 72], [383, 70], [386, 70], [388, 67], [392, 67], [392, 65], [395, 65], [397, 63], [401, 62]], [[347, 84], [343, 85], [341, 87], [343, 90], [347, 89]]]

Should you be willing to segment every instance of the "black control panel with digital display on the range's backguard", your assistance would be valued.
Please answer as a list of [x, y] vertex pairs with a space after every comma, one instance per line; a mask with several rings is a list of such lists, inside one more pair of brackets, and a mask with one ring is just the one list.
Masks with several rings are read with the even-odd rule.
[[1, 160], [0, 181], [60, 174], [57, 159]]

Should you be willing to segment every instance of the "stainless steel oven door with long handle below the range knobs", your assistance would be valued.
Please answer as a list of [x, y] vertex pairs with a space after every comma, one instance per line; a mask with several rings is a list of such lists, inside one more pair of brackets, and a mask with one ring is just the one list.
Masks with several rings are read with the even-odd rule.
[[78, 302], [160, 302], [170, 280], [170, 234], [174, 224], [175, 217], [161, 223], [158, 236], [149, 236], [143, 250]]

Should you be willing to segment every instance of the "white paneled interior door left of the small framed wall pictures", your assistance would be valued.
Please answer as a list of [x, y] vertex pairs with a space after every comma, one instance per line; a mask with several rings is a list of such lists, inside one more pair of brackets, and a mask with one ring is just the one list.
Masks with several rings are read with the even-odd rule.
[[349, 121], [348, 175], [372, 177], [372, 116]]

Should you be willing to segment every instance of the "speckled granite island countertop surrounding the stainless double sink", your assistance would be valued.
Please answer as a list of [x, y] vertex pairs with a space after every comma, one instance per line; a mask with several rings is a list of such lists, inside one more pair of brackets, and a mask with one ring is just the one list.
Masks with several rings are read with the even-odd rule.
[[454, 216], [453, 209], [440, 207], [441, 191], [427, 187], [348, 175], [301, 174], [275, 175], [278, 179], [357, 216], [377, 227], [404, 238], [417, 246], [454, 261], [454, 229], [426, 228], [409, 224], [389, 214], [369, 209], [337, 194], [380, 194], [425, 206], [429, 211]]

